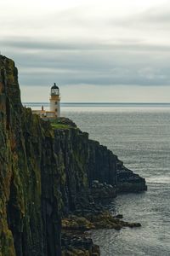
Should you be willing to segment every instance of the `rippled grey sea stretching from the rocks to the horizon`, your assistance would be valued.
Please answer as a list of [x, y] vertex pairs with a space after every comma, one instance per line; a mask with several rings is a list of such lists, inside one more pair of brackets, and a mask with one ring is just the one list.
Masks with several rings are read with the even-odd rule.
[[[44, 102], [23, 104], [48, 108]], [[148, 185], [146, 192], [105, 202], [113, 214], [142, 226], [91, 231], [101, 255], [170, 255], [170, 103], [62, 103], [61, 115], [111, 149]]]

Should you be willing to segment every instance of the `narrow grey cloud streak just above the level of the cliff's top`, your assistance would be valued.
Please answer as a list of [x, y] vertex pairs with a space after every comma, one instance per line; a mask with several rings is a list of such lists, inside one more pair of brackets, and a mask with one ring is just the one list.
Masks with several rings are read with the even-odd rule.
[[[81, 51], [117, 51], [117, 50], [131, 50], [131, 51], [170, 51], [169, 45], [161, 44], [146, 44], [142, 40], [121, 39], [116, 40], [116, 43], [102, 43], [102, 42], [87, 42], [84, 43], [81, 40], [79, 42], [70, 41], [62, 42], [50, 42], [47, 39], [35, 40], [33, 38], [6, 38], [0, 39], [0, 45], [5, 49], [20, 49], [24, 50], [48, 50], [48, 51], [74, 51], [76, 54]], [[41, 52], [40, 52], [41, 54]], [[50, 54], [50, 53], [49, 53]]]

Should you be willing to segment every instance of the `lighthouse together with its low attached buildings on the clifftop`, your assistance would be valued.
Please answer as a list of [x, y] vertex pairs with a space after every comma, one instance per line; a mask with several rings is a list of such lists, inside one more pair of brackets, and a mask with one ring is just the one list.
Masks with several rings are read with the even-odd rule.
[[33, 114], [37, 114], [42, 119], [56, 119], [60, 117], [60, 96], [59, 87], [54, 83], [50, 91], [50, 111], [44, 110], [43, 106], [41, 110], [32, 110]]

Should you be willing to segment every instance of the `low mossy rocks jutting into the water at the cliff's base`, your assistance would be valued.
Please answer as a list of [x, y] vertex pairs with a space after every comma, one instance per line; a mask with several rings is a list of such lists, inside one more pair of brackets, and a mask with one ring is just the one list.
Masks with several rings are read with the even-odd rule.
[[139, 223], [123, 221], [122, 215], [112, 216], [110, 212], [86, 213], [85, 216], [70, 215], [63, 218], [62, 224], [62, 255], [99, 256], [99, 246], [94, 245], [87, 231], [94, 229], [139, 228]]

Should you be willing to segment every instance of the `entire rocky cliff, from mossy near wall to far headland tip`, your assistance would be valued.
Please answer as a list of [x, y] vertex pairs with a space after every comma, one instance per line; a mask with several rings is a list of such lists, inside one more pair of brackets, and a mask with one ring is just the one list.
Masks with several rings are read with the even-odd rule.
[[110, 150], [59, 122], [23, 108], [14, 61], [0, 55], [0, 256], [61, 255], [61, 217], [93, 207], [100, 183], [114, 195], [122, 183], [145, 189]]

